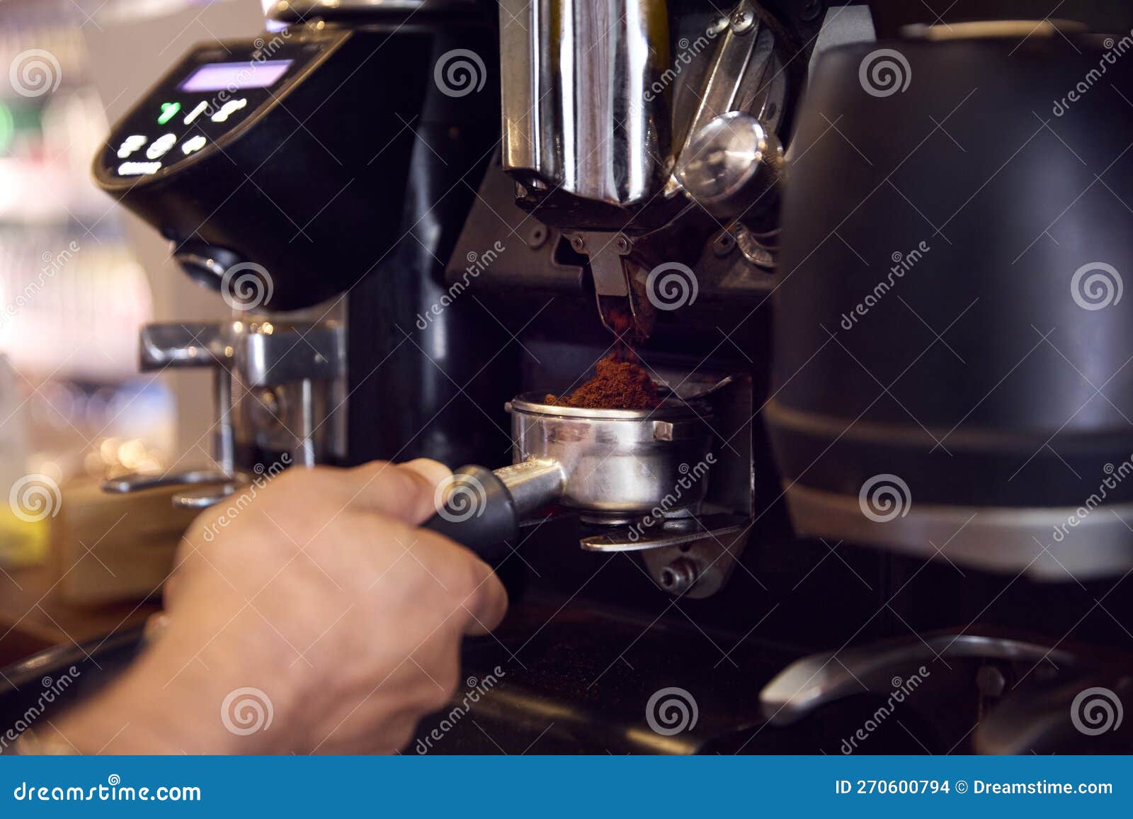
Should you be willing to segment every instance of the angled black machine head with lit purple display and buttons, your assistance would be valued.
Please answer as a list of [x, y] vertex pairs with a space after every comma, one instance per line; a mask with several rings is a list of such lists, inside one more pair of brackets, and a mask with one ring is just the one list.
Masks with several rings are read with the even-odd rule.
[[[221, 267], [265, 271], [266, 309], [316, 304], [360, 280], [400, 235], [408, 124], [421, 113], [431, 54], [431, 33], [414, 26], [397, 36], [295, 26], [196, 47], [114, 126], [94, 178], [169, 238], [190, 273], [215, 279], [201, 262], [227, 251]], [[134, 136], [145, 143], [121, 157]], [[147, 155], [162, 138], [168, 151]]]

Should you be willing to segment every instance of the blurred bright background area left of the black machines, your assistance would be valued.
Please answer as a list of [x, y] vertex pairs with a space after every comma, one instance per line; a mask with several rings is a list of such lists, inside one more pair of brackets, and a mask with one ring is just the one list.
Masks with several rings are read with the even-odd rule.
[[91, 161], [177, 54], [262, 24], [256, 0], [0, 2], [0, 667], [157, 607], [193, 514], [97, 481], [210, 465], [207, 375], [139, 374], [137, 331], [223, 304]]

